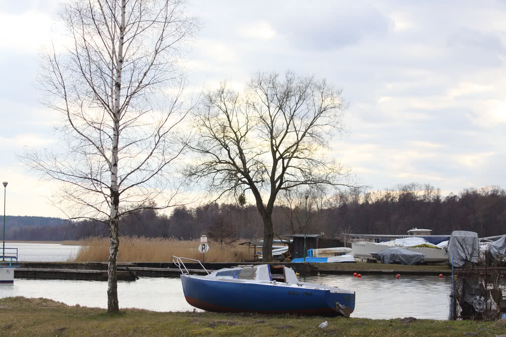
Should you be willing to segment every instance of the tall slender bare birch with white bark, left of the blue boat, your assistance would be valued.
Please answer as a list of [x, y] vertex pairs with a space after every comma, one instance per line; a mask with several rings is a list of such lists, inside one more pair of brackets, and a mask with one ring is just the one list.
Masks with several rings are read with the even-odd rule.
[[166, 178], [184, 148], [174, 132], [191, 109], [178, 61], [197, 21], [179, 0], [75, 0], [60, 18], [71, 43], [43, 56], [39, 84], [61, 115], [61, 142], [23, 158], [59, 182], [69, 217], [108, 224], [107, 311], [117, 312], [120, 217], [171, 206], [177, 193]]

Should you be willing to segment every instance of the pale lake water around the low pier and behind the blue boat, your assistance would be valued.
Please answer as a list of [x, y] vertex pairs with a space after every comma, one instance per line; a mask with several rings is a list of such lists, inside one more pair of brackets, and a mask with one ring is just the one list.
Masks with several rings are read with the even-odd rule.
[[[11, 245], [20, 249], [20, 261], [67, 261], [69, 256], [78, 250], [78, 246], [54, 244]], [[25, 258], [21, 258], [22, 249], [26, 250]], [[43, 249], [45, 252], [36, 254], [38, 258], [44, 260], [28, 253], [37, 249]], [[47, 260], [49, 257], [58, 257], [59, 260]], [[362, 278], [353, 275], [320, 275], [307, 277], [306, 281], [355, 291], [356, 304], [352, 317], [390, 319], [412, 316], [448, 319], [451, 291], [448, 276], [440, 279], [438, 276], [401, 275], [401, 278], [396, 279], [392, 275], [363, 275]], [[107, 282], [16, 278], [14, 284], [0, 284], [0, 298], [12, 296], [44, 297], [68, 305], [79, 304], [105, 309]], [[193, 310], [193, 307], [186, 303], [179, 278], [141, 277], [131, 282], [119, 281], [118, 299], [120, 308], [153, 311]]]

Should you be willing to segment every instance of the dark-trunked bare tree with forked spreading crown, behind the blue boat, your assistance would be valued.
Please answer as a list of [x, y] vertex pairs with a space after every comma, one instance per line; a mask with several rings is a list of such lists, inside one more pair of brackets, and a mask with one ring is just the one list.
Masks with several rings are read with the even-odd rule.
[[186, 174], [210, 192], [251, 190], [264, 223], [263, 258], [272, 258], [272, 211], [282, 190], [348, 186], [349, 174], [330, 160], [329, 141], [342, 131], [347, 104], [325, 80], [288, 72], [259, 73], [243, 93], [223, 84], [205, 95], [189, 147], [197, 164]]

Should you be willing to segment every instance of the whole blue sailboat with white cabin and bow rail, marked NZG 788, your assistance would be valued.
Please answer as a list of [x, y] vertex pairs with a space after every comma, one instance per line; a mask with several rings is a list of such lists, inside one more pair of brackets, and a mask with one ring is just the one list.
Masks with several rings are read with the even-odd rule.
[[208, 272], [200, 264], [207, 275], [192, 275], [183, 259], [200, 261], [173, 257], [181, 270], [186, 301], [203, 310], [348, 317], [355, 309], [355, 292], [299, 282], [286, 266], [259, 264]]

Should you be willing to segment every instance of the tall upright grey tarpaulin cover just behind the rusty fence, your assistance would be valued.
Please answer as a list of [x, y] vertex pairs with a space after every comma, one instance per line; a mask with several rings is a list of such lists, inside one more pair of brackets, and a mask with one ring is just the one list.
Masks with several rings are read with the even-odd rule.
[[448, 256], [453, 266], [460, 268], [466, 262], [478, 263], [480, 244], [478, 233], [467, 230], [454, 230], [448, 243]]

